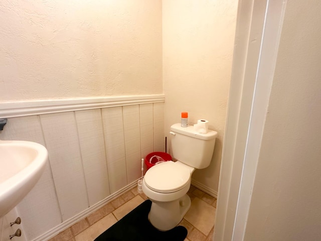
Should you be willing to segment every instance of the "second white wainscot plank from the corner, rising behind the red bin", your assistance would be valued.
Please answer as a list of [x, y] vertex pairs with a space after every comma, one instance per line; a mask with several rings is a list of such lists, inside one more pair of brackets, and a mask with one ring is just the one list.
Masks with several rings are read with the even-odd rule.
[[154, 151], [153, 140], [153, 106], [152, 104], [140, 104], [140, 143], [143, 158]]

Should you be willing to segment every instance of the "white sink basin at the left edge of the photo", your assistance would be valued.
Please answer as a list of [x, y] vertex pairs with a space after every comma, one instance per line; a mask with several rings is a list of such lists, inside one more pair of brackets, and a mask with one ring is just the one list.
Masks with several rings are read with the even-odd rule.
[[36, 185], [47, 160], [47, 149], [38, 143], [0, 140], [0, 218]]

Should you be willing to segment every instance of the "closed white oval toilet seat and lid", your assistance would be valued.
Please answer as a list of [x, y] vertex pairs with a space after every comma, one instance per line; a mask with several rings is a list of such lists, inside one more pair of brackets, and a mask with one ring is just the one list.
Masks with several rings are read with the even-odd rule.
[[191, 172], [188, 168], [173, 161], [159, 163], [150, 168], [144, 181], [148, 188], [159, 193], [171, 193], [189, 184]]

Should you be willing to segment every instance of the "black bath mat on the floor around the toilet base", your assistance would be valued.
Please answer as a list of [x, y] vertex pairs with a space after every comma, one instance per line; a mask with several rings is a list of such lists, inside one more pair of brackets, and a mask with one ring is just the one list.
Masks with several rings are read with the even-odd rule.
[[148, 221], [151, 201], [146, 200], [100, 234], [94, 241], [184, 241], [187, 229], [183, 226], [159, 231]]

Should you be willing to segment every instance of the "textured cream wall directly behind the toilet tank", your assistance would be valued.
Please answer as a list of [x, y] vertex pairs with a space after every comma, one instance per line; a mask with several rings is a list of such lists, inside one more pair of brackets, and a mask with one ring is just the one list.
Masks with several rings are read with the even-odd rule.
[[163, 1], [165, 135], [189, 112], [219, 133], [210, 167], [194, 180], [217, 192], [232, 68], [237, 1]]

